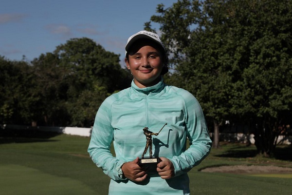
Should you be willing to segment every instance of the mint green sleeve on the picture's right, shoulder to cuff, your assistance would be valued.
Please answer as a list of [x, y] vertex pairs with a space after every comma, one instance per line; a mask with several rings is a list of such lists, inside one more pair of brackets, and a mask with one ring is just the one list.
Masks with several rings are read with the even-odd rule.
[[206, 121], [198, 100], [185, 92], [185, 126], [190, 147], [180, 156], [169, 158], [175, 168], [175, 176], [188, 172], [209, 155], [212, 141], [209, 137]]

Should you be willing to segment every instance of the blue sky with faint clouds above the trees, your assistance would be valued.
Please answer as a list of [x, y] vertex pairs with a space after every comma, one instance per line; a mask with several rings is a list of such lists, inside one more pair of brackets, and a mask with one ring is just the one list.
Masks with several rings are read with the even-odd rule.
[[0, 0], [0, 56], [31, 61], [69, 39], [86, 37], [122, 60], [128, 38], [157, 15], [157, 5], [176, 1]]

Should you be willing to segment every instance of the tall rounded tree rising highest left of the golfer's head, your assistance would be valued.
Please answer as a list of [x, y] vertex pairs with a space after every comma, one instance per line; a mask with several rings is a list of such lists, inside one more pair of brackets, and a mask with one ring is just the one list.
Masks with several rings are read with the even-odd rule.
[[128, 86], [122, 82], [129, 77], [119, 64], [119, 55], [106, 51], [92, 39], [70, 39], [57, 46], [54, 54], [60, 59], [60, 66], [71, 70], [68, 79], [75, 82], [73, 91], [91, 87], [92, 81], [107, 86], [110, 93]]

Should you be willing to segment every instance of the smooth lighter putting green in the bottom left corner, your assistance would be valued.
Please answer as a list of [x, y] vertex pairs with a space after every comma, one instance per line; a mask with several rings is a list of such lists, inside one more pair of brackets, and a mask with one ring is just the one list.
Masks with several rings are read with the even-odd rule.
[[19, 165], [0, 165], [3, 195], [81, 195], [95, 194], [86, 184], [68, 177], [53, 176]]

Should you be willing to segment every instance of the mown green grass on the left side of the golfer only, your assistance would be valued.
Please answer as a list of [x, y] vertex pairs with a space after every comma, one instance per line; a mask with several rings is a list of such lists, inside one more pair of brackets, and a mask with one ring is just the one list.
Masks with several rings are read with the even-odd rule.
[[[27, 189], [23, 181], [31, 179], [36, 191], [27, 193], [29, 195], [107, 194], [110, 178], [92, 163], [87, 153], [89, 140], [88, 137], [68, 135], [2, 140], [5, 143], [0, 144], [1, 193], [23, 195]], [[9, 170], [17, 170], [13, 172], [14, 177], [2, 177], [9, 176]], [[53, 185], [52, 181], [58, 185]], [[16, 192], [5, 187], [9, 183], [14, 185]]]

